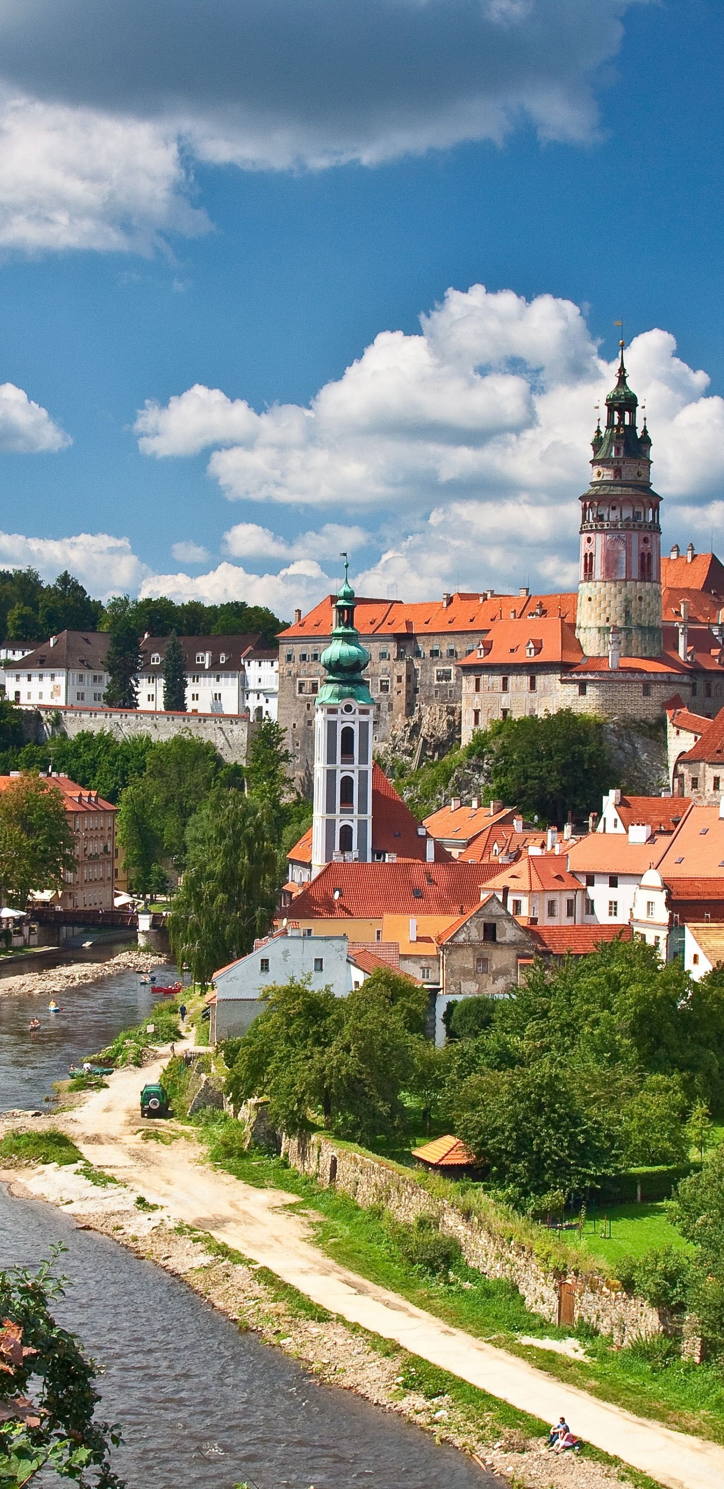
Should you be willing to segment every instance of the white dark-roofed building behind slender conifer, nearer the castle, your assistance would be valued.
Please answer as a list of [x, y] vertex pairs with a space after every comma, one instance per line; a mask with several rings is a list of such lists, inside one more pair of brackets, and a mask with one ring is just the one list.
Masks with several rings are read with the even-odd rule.
[[[246, 713], [277, 718], [279, 655], [262, 636], [179, 636], [186, 672], [188, 713]], [[145, 636], [139, 709], [164, 707], [167, 636]]]

